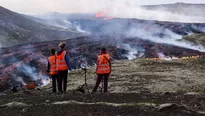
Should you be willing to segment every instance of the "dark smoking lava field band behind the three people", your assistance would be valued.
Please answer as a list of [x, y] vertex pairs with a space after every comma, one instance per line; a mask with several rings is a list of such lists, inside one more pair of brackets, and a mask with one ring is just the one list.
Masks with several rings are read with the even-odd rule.
[[[80, 64], [87, 61], [89, 65], [94, 65], [96, 55], [101, 47], [107, 47], [113, 60], [128, 59], [130, 45], [133, 51], [138, 50], [138, 54], [131, 56], [156, 58], [158, 53], [166, 56], [184, 57], [193, 55], [203, 55], [204, 53], [180, 48], [176, 46], [157, 44], [139, 38], [115, 38], [112, 36], [88, 36], [65, 40], [67, 50], [70, 55], [72, 68], [80, 68]], [[46, 74], [47, 57], [50, 55], [50, 48], [58, 48], [61, 41], [48, 41], [40, 43], [23, 44], [0, 49], [0, 91], [4, 91], [13, 85], [19, 85], [16, 77], [21, 77], [26, 83], [32, 78], [41, 79], [42, 74]], [[144, 50], [142, 50], [144, 49]], [[140, 51], [142, 50], [142, 51]], [[29, 69], [29, 70], [27, 70]], [[28, 73], [30, 72], [30, 73]], [[21, 84], [21, 83], [20, 83]]]

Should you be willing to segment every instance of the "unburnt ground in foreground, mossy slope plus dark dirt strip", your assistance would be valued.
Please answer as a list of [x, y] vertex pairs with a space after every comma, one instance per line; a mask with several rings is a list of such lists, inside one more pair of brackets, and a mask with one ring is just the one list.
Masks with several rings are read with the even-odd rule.
[[[108, 94], [74, 93], [84, 83], [83, 70], [69, 74], [68, 92], [39, 90], [0, 93], [1, 116], [203, 116], [204, 58], [114, 61]], [[95, 68], [88, 69], [95, 84]]]

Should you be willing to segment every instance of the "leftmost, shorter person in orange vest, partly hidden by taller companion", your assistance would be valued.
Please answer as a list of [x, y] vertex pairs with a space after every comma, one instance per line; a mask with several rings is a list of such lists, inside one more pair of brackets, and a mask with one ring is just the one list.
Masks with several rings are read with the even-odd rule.
[[53, 93], [56, 93], [56, 83], [58, 82], [55, 52], [56, 52], [55, 49], [51, 49], [51, 56], [48, 57], [48, 69], [47, 69], [47, 72], [50, 74], [52, 78], [52, 92]]

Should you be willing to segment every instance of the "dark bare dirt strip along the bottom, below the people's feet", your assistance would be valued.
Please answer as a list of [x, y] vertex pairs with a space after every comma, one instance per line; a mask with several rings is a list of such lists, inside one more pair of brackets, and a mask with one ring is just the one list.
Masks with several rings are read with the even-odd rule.
[[[183, 94], [72, 94], [53, 95], [45, 91], [31, 91], [1, 95], [2, 116], [202, 116], [204, 97]], [[14, 102], [15, 101], [15, 102]], [[181, 104], [187, 109], [158, 111], [163, 103]], [[20, 104], [24, 103], [24, 104]], [[16, 104], [16, 105], [14, 105]]]

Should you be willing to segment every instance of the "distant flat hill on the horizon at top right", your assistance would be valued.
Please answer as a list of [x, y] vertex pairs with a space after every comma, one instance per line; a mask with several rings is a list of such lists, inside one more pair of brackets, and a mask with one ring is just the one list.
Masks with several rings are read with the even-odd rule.
[[179, 2], [175, 4], [147, 5], [142, 7], [148, 10], [164, 10], [189, 16], [205, 16], [205, 4], [188, 4]]

